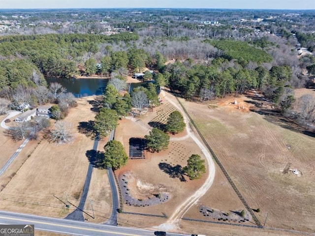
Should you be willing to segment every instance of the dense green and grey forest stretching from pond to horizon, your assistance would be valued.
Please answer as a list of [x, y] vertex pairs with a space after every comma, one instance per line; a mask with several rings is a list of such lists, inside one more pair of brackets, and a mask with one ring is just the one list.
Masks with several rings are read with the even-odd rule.
[[[67, 79], [98, 73], [124, 79], [147, 67], [155, 71], [156, 85], [168, 86], [187, 99], [205, 101], [259, 89], [285, 113], [295, 101], [293, 89], [311, 84], [315, 36], [301, 31], [312, 28], [314, 16], [308, 11], [295, 15], [248, 11], [245, 19], [239, 18], [238, 10], [210, 11], [211, 19], [218, 17], [214, 22], [205, 21], [210, 19], [207, 10], [203, 14], [196, 10], [121, 11], [87, 10], [81, 16], [63, 10], [1, 12], [2, 19], [20, 14], [24, 24], [38, 25], [26, 24], [24, 29], [12, 29], [11, 34], [2, 32], [0, 97], [12, 100], [7, 91], [13, 95], [21, 86], [46, 86], [44, 76]], [[303, 15], [309, 24], [297, 15]], [[259, 17], [264, 19], [255, 20]], [[274, 24], [269, 24], [272, 19]], [[310, 53], [298, 57], [299, 45]], [[165, 65], [170, 59], [176, 62]], [[151, 78], [151, 74], [144, 77]]]

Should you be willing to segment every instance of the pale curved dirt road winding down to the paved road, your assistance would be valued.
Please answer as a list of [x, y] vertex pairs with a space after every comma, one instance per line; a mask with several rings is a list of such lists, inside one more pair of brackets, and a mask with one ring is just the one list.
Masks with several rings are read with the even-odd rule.
[[[199, 198], [201, 198], [207, 190], [211, 187], [213, 180], [215, 178], [215, 163], [212, 160], [212, 156], [209, 153], [208, 149], [203, 145], [202, 142], [197, 138], [197, 136], [190, 130], [189, 126], [189, 119], [186, 115], [186, 113], [183, 111], [182, 107], [180, 107], [178, 104], [176, 104], [174, 101], [171, 101], [169, 98], [167, 98], [165, 91], [161, 91], [162, 96], [169, 101], [172, 105], [174, 105], [184, 116], [184, 120], [186, 123], [186, 131], [187, 134], [184, 137], [178, 138], [178, 140], [181, 140], [182, 138], [187, 138], [187, 136], [190, 136], [194, 142], [199, 146], [202, 153], [205, 155], [207, 163], [208, 163], [208, 177], [205, 181], [205, 183], [196, 191], [194, 194], [192, 194], [188, 199], [186, 199], [184, 202], [182, 202], [174, 211], [174, 213], [169, 217], [166, 223], [159, 225], [158, 229], [164, 229], [164, 230], [176, 230], [178, 229], [180, 218], [188, 211], [188, 209], [195, 204]], [[174, 139], [173, 139], [174, 140]]]

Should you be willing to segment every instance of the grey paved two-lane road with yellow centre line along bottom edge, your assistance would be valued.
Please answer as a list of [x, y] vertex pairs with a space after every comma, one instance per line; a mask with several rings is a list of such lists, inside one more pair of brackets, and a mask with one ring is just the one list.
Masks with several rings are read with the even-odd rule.
[[[75, 236], [154, 236], [153, 231], [0, 211], [0, 224], [33, 224], [35, 230]], [[167, 236], [185, 236], [167, 233]], [[186, 235], [187, 236], [187, 235]]]

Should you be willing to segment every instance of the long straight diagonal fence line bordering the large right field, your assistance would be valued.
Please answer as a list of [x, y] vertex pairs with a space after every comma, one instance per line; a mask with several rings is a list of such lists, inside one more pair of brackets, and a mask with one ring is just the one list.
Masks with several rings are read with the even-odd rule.
[[235, 186], [234, 182], [232, 181], [230, 175], [227, 173], [227, 171], [225, 170], [225, 168], [222, 166], [220, 160], [218, 159], [216, 153], [213, 151], [213, 149], [210, 147], [210, 145], [208, 144], [207, 140], [205, 139], [205, 137], [201, 134], [201, 132], [199, 131], [197, 125], [195, 124], [194, 120], [191, 119], [188, 111], [186, 110], [186, 108], [184, 107], [184, 105], [182, 104], [181, 101], [179, 101], [179, 99], [176, 97], [176, 100], [179, 102], [179, 104], [181, 105], [181, 107], [183, 108], [184, 112], [186, 113], [186, 115], [189, 118], [189, 121], [191, 122], [191, 124], [194, 126], [194, 128], [196, 129], [197, 133], [200, 135], [203, 143], [205, 144], [205, 146], [208, 148], [208, 150], [210, 151], [212, 158], [215, 160], [215, 162], [218, 164], [218, 166], [220, 167], [221, 171], [223, 172], [225, 178], [227, 179], [227, 181], [230, 183], [231, 187], [233, 188], [234, 192], [236, 193], [236, 195], [238, 196], [238, 198], [241, 200], [241, 202], [244, 204], [244, 206], [246, 207], [246, 209], [248, 210], [248, 212], [250, 212], [253, 221], [256, 223], [256, 225], [260, 228], [262, 228], [262, 225], [260, 223], [260, 221], [257, 219], [257, 217], [255, 216], [255, 214], [252, 211], [252, 208], [248, 205], [248, 203], [245, 201], [245, 199], [243, 198], [243, 196], [241, 195], [240, 191], [237, 189], [237, 187]]

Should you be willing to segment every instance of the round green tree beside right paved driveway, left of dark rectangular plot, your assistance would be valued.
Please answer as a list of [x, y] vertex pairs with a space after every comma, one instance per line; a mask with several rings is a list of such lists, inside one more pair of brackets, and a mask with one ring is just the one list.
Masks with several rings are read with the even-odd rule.
[[120, 169], [125, 166], [128, 156], [123, 144], [117, 140], [111, 140], [104, 146], [104, 167]]

